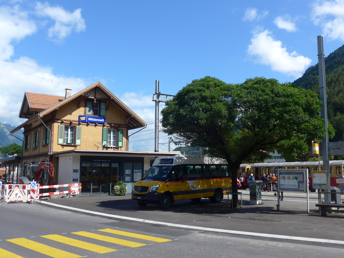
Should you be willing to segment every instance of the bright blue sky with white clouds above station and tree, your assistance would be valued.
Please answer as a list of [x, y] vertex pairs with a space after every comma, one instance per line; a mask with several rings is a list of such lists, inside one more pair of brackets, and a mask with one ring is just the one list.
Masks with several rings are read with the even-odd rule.
[[0, 0], [0, 32], [1, 122], [24, 121], [24, 92], [99, 81], [149, 124], [130, 149], [154, 150], [156, 79], [171, 95], [204, 76], [293, 82], [318, 62], [318, 35], [325, 56], [344, 44], [344, 0]]

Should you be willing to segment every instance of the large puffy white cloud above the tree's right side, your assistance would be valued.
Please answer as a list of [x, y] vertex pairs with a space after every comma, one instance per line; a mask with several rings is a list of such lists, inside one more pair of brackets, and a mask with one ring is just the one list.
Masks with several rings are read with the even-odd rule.
[[254, 33], [248, 46], [248, 54], [256, 57], [257, 63], [294, 77], [300, 77], [312, 61], [295, 51], [289, 53], [281, 41], [273, 39], [269, 30]]

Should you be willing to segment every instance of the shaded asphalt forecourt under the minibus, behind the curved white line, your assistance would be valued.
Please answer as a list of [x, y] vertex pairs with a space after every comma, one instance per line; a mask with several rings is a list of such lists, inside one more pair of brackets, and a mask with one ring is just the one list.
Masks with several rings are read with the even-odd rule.
[[222, 229], [227, 232], [228, 230], [245, 232], [243, 235], [257, 237], [265, 234], [264, 237], [279, 235], [283, 239], [288, 237], [324, 239], [324, 241], [319, 240], [319, 243], [326, 243], [326, 240], [344, 240], [344, 215], [332, 213], [327, 217], [320, 216], [319, 209], [315, 207], [318, 203], [317, 193], [309, 193], [310, 213], [308, 213], [306, 193], [284, 192], [284, 201], [280, 202], [280, 211], [277, 211], [277, 197], [273, 196], [273, 192], [262, 193], [261, 205], [250, 205], [248, 190], [241, 192], [243, 192], [243, 207], [237, 209], [228, 207], [227, 196], [220, 203], [211, 203], [208, 199], [202, 199], [199, 203], [192, 203], [190, 200], [178, 201], [168, 210], [153, 204], [139, 207], [136, 201], [131, 200], [130, 194], [82, 195], [50, 200], [47, 203], [130, 217], [133, 218], [132, 221], [141, 219], [143, 223], [150, 220], [153, 221], [151, 224], [213, 228], [215, 232], [219, 231], [217, 229]]

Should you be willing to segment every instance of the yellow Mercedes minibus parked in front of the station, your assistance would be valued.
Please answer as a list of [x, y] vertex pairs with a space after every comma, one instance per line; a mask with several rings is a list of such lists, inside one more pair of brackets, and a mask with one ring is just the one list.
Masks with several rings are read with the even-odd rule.
[[157, 158], [142, 179], [134, 184], [131, 198], [140, 207], [148, 203], [167, 209], [171, 203], [209, 198], [220, 202], [231, 189], [228, 165], [220, 158], [194, 158], [185, 155]]

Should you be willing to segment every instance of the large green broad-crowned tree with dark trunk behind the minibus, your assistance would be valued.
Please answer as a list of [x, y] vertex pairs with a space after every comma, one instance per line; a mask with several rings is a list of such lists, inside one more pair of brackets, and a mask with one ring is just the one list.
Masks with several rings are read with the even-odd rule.
[[[227, 84], [214, 77], [193, 80], [161, 111], [163, 131], [176, 144], [209, 147], [228, 162], [232, 192], [241, 163], [262, 162], [282, 142], [325, 134], [320, 100], [309, 90], [256, 77]], [[235, 207], [238, 198], [233, 196]]]

